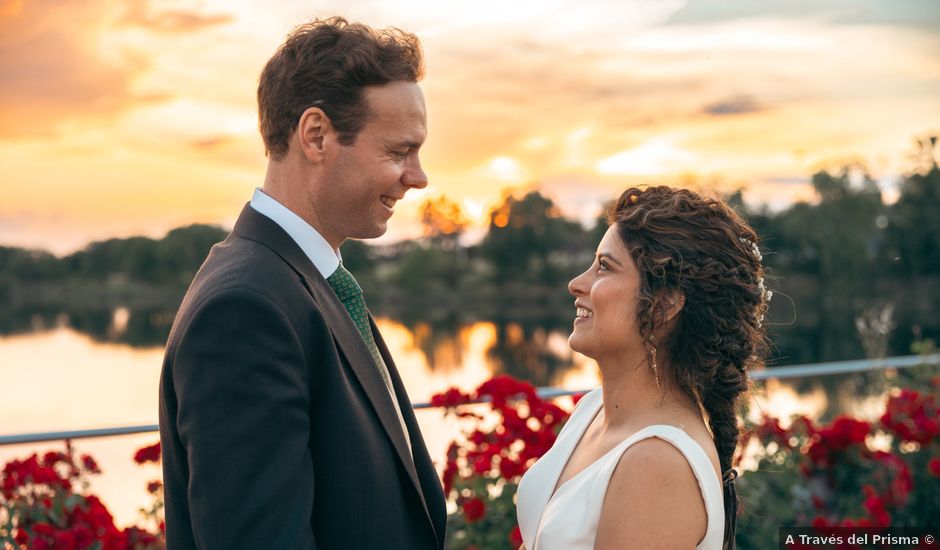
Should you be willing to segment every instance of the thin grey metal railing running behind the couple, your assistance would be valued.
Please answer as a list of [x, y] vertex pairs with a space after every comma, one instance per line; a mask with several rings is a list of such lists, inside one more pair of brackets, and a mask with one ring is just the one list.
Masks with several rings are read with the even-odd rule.
[[[832, 376], [837, 374], [850, 374], [856, 372], [903, 369], [920, 365], [940, 364], [940, 354], [933, 355], [907, 355], [902, 357], [889, 357], [886, 359], [860, 359], [857, 361], [836, 361], [830, 363], [812, 363], [808, 365], [794, 365], [789, 367], [773, 367], [750, 373], [752, 380], [785, 380], [789, 378], [803, 378], [807, 376]], [[564, 397], [585, 393], [589, 389], [566, 390], [562, 388], [538, 388], [536, 393], [543, 399]], [[487, 399], [470, 401], [470, 403], [483, 403]], [[414, 403], [415, 410], [430, 409], [431, 403]], [[157, 424], [143, 426], [126, 426], [119, 428], [99, 428], [93, 430], [71, 430], [62, 432], [40, 432], [18, 435], [0, 436], [0, 445], [19, 445], [24, 443], [41, 443], [44, 441], [60, 441], [63, 439], [86, 439], [91, 437], [111, 437], [116, 435], [130, 435], [149, 433], [159, 430]]]

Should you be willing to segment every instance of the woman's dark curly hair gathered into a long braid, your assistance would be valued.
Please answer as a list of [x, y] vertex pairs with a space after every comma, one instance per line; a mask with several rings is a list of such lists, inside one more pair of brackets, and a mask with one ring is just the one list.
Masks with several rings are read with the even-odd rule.
[[[627, 189], [609, 222], [640, 272], [637, 322], [648, 353], [655, 345], [668, 356], [663, 375], [705, 411], [721, 471], [729, 472], [738, 398], [768, 351], [757, 234], [722, 201], [665, 186]], [[684, 305], [661, 334], [666, 298], [676, 292]], [[725, 484], [724, 501], [725, 545], [733, 548], [733, 483]]]

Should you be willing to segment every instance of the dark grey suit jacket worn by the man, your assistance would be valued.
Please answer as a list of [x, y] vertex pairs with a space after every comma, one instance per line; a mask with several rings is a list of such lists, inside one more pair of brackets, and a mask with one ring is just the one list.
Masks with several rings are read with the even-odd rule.
[[[245, 206], [183, 299], [160, 380], [167, 549], [440, 549], [446, 511], [332, 289]], [[413, 454], [413, 459], [412, 459]]]

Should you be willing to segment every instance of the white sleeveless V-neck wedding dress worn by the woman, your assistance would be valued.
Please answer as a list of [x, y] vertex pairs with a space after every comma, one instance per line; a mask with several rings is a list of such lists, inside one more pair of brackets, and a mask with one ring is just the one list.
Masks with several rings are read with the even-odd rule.
[[593, 550], [607, 484], [620, 456], [637, 441], [658, 437], [682, 452], [698, 479], [708, 526], [698, 550], [721, 550], [724, 505], [721, 483], [705, 450], [684, 431], [655, 424], [636, 432], [566, 481], [555, 494], [568, 458], [603, 406], [601, 390], [584, 396], [555, 445], [522, 477], [516, 496], [519, 529], [526, 550]]

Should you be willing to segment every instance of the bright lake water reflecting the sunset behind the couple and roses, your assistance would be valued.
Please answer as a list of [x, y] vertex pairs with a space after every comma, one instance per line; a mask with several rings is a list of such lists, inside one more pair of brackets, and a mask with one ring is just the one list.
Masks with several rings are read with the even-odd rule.
[[[116, 330], [126, 314], [114, 315]], [[536, 385], [587, 389], [598, 385], [593, 361], [572, 353], [562, 331], [527, 331], [516, 325], [480, 322], [443, 336], [428, 326], [408, 328], [379, 319], [405, 386], [414, 402], [456, 386], [474, 389], [497, 372], [509, 372]], [[0, 337], [0, 435], [155, 424], [162, 347], [132, 347], [102, 342], [61, 325]], [[768, 382], [755, 392], [753, 411], [787, 417], [816, 417], [830, 405], [831, 392]], [[880, 399], [855, 400], [854, 411], [879, 414]], [[568, 407], [565, 400], [562, 406]], [[418, 412], [431, 456], [442, 462], [459, 425], [439, 410]], [[138, 466], [136, 449], [156, 442], [156, 433], [76, 440], [79, 453], [94, 456], [104, 473], [91, 490], [109, 506], [119, 524], [133, 523], [137, 510], [150, 502], [145, 486], [160, 478], [159, 467]], [[61, 449], [49, 442], [0, 447], [0, 465], [33, 452]]]

